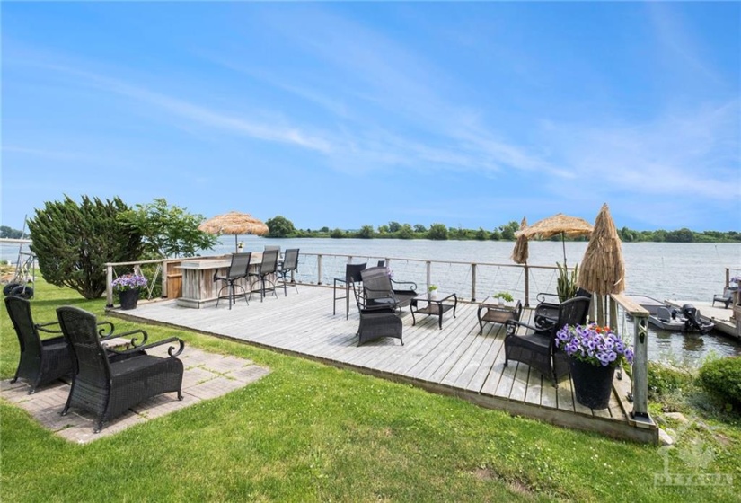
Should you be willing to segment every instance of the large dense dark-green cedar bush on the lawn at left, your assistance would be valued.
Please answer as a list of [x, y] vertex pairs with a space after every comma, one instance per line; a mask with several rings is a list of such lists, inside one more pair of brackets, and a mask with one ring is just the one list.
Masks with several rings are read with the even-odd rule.
[[117, 218], [128, 209], [118, 197], [103, 203], [87, 196], [79, 206], [65, 196], [36, 209], [29, 221], [31, 251], [44, 278], [86, 299], [100, 297], [106, 287], [103, 264], [139, 260], [143, 252], [141, 235]]

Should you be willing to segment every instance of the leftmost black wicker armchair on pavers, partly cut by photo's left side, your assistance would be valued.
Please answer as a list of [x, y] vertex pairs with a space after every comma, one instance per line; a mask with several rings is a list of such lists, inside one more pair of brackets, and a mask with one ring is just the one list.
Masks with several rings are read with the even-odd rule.
[[[66, 344], [59, 322], [35, 323], [31, 316], [31, 303], [19, 296], [6, 296], [5, 307], [13, 323], [15, 335], [21, 347], [18, 368], [11, 383], [18, 379], [31, 384], [29, 394], [44, 384], [49, 384], [63, 377], [72, 377], [72, 355]], [[98, 335], [109, 336], [113, 333], [113, 323], [98, 322]], [[41, 333], [57, 334], [48, 339], [41, 339]], [[118, 334], [123, 337], [126, 334]], [[118, 353], [108, 350], [109, 357], [118, 357]]]

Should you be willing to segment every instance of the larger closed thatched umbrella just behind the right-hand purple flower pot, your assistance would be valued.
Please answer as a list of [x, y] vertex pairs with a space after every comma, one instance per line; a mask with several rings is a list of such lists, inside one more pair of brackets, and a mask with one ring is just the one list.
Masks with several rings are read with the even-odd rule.
[[[589, 238], [578, 286], [597, 296], [609, 296], [625, 291], [625, 263], [622, 261], [622, 245], [610, 208], [602, 205], [595, 220], [595, 230]], [[604, 324], [603, 301], [598, 297], [597, 322]]]

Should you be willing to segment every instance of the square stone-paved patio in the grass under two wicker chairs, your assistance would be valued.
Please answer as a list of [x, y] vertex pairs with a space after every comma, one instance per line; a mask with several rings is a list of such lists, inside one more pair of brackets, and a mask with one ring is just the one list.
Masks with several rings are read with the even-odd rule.
[[[166, 357], [167, 346], [147, 352]], [[4, 379], [0, 381], [0, 396], [28, 411], [43, 428], [49, 429], [59, 437], [70, 442], [86, 444], [149, 419], [185, 409], [201, 400], [222, 396], [269, 374], [269, 368], [252, 365], [248, 359], [217, 355], [195, 348], [186, 347], [180, 358], [185, 366], [183, 400], [177, 399], [177, 393], [157, 395], [132, 407], [117, 418], [103, 423], [101, 432], [97, 434], [93, 433], [95, 418], [90, 412], [73, 407], [66, 416], [61, 415], [69, 395], [69, 382], [58, 381], [47, 384], [40, 387], [36, 393], [28, 394], [31, 389], [28, 384], [22, 381], [11, 383], [10, 379]]]

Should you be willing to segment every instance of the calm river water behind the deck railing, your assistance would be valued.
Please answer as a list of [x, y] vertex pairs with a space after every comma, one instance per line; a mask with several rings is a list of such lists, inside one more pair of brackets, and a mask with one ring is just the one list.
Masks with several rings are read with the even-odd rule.
[[[281, 249], [300, 248], [302, 253], [353, 255], [354, 261], [391, 258], [394, 278], [410, 279], [425, 284], [424, 264], [414, 260], [439, 260], [442, 262], [488, 262], [513, 264], [509, 258], [514, 247], [511, 242], [495, 241], [428, 241], [393, 239], [269, 239], [240, 236], [246, 252], [260, 252], [266, 244], [278, 244]], [[560, 242], [535, 241], [529, 243], [529, 265], [554, 266], [563, 261]], [[569, 265], [580, 263], [587, 249], [586, 242], [567, 242], [566, 257]], [[2, 260], [15, 261], [18, 246], [2, 247]], [[204, 254], [234, 252], [234, 237], [224, 236], [221, 244]], [[710, 302], [712, 296], [723, 290], [725, 268], [732, 276], [741, 276], [741, 244], [737, 243], [622, 243], [626, 269], [626, 293], [664, 299]], [[406, 260], [410, 260], [407, 262]], [[313, 261], [312, 261], [313, 260]], [[344, 258], [322, 259], [322, 282], [331, 284], [331, 278], [344, 274]], [[316, 260], [302, 260], [299, 278], [316, 278]], [[463, 266], [462, 266], [463, 267]], [[470, 285], [470, 267], [456, 268], [446, 264], [433, 264], [432, 282], [441, 289], [464, 292], [455, 279]], [[465, 276], [466, 270], [468, 278]], [[524, 291], [522, 269], [487, 267], [477, 269], [477, 297], [499, 290], [509, 290], [516, 296]], [[551, 270], [534, 272], [531, 292], [554, 292], [555, 273]], [[445, 286], [448, 286], [447, 288]], [[470, 287], [469, 287], [470, 288]], [[470, 297], [469, 295], [463, 295]], [[531, 294], [532, 296], [532, 294]], [[531, 298], [531, 302], [534, 299]], [[626, 328], [627, 328], [627, 322]], [[709, 335], [683, 335], [654, 331], [651, 327], [648, 357], [696, 366], [711, 354], [741, 355], [741, 344], [715, 333]]]

